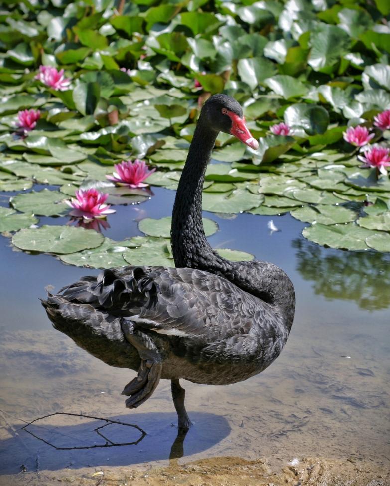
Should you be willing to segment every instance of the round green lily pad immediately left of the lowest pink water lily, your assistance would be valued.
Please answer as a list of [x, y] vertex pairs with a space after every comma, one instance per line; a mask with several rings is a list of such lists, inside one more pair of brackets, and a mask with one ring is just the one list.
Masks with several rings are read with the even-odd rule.
[[69, 206], [62, 201], [67, 199], [65, 194], [58, 191], [43, 191], [17, 194], [11, 197], [12, 207], [25, 213], [38, 216], [64, 216], [69, 212]]

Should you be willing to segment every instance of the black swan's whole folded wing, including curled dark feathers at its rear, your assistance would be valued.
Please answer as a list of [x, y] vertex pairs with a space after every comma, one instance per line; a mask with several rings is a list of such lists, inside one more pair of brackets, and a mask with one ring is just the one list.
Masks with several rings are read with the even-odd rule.
[[129, 318], [144, 330], [179, 337], [247, 333], [259, 310], [258, 299], [228, 280], [190, 268], [104, 270], [97, 280], [84, 278], [62, 292], [71, 301]]

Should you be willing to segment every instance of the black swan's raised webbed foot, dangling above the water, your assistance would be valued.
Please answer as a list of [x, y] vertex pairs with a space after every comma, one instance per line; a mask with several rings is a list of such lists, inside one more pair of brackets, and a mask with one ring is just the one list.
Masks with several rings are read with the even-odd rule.
[[161, 363], [153, 363], [149, 360], [141, 361], [138, 376], [131, 380], [122, 391], [123, 395], [130, 396], [125, 402], [127, 408], [137, 408], [150, 398], [160, 381], [161, 370]]

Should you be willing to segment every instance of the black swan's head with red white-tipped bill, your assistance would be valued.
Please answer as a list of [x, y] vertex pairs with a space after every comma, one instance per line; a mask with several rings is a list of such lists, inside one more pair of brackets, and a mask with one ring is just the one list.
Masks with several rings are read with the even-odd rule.
[[211, 129], [230, 133], [254, 150], [258, 149], [259, 143], [248, 130], [243, 109], [234, 98], [222, 94], [213, 95], [202, 108], [202, 119], [207, 120]]

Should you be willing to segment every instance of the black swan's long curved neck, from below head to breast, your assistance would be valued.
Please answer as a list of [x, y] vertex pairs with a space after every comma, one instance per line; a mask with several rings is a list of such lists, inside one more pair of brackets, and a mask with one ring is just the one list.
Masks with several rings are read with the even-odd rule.
[[202, 189], [207, 164], [218, 132], [202, 123], [202, 115], [177, 188], [172, 212], [171, 244], [176, 267], [206, 270], [275, 305], [288, 330], [292, 326], [295, 293], [290, 279], [268, 262], [230, 262], [206, 239], [202, 223]]

